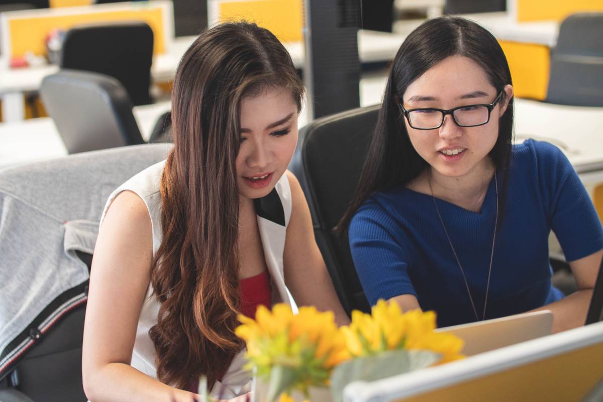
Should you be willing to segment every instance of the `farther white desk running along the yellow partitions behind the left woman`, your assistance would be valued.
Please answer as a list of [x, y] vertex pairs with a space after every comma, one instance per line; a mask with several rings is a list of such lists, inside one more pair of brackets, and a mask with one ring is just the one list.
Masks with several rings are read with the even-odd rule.
[[[178, 37], [169, 44], [168, 52], [153, 58], [151, 78], [154, 82], [171, 81], [174, 78], [180, 58], [192, 44], [196, 36]], [[358, 51], [361, 63], [388, 61], [394, 58], [405, 36], [376, 31], [358, 32]], [[291, 54], [296, 68], [303, 68], [304, 48], [301, 42], [283, 43]], [[58, 66], [48, 65], [36, 68], [0, 69], [0, 99], [4, 122], [21, 121], [25, 117], [24, 93], [37, 92], [46, 75], [54, 74]]]

